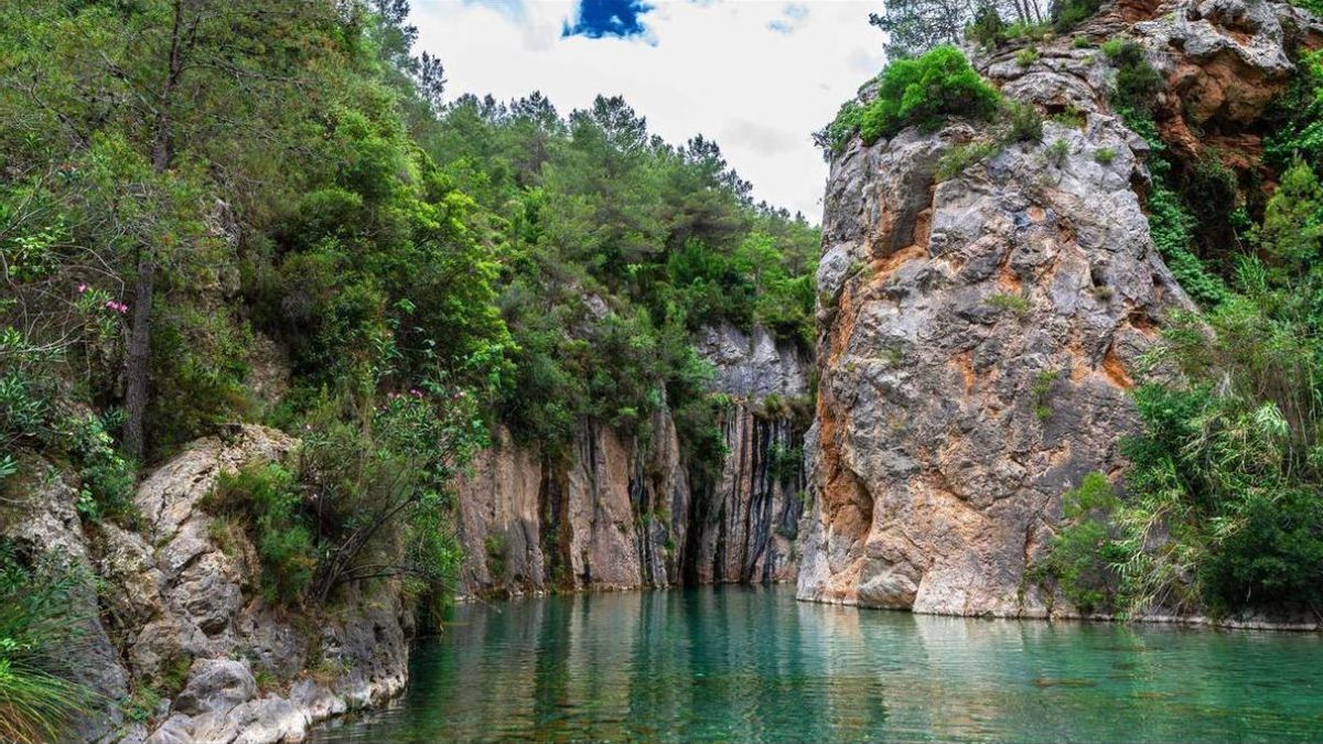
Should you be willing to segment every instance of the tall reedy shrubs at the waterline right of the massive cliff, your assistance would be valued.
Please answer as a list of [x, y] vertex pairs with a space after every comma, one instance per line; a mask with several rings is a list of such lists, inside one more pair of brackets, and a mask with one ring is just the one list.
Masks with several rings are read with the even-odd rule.
[[1135, 391], [1143, 433], [1123, 442], [1127, 496], [1099, 526], [1080, 527], [1106, 535], [1122, 609], [1323, 600], [1323, 204], [1304, 165], [1282, 184], [1254, 232], [1257, 254], [1237, 258], [1234, 291], [1222, 286], [1203, 315], [1177, 314], [1164, 328], [1151, 361], [1184, 384]]

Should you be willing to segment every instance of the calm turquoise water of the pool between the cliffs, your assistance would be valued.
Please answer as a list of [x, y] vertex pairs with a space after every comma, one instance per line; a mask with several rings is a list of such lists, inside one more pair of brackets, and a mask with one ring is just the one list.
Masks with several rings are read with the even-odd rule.
[[1323, 638], [960, 620], [789, 588], [454, 609], [407, 692], [312, 740], [1323, 740]]

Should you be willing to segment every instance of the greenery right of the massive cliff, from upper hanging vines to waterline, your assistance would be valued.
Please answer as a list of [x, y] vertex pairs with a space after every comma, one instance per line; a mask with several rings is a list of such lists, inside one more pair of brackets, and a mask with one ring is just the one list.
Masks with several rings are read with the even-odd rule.
[[1237, 176], [1216, 151], [1174, 164], [1154, 123], [1162, 78], [1135, 42], [1107, 52], [1113, 105], [1155, 152], [1154, 242], [1203, 312], [1172, 318], [1150, 355], [1166, 373], [1134, 393], [1143, 433], [1125, 446], [1125, 494], [1098, 496], [1097, 482], [1066, 494], [1080, 506], [1040, 568], [1085, 610], [1318, 612], [1318, 64], [1306, 54], [1286, 109], [1265, 116], [1283, 126], [1266, 138], [1262, 165], [1279, 169], [1263, 196], [1257, 175]]

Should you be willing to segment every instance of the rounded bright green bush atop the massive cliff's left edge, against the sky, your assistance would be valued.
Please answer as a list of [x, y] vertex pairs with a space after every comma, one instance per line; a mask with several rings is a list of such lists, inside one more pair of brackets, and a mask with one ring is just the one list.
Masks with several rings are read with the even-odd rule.
[[[864, 143], [892, 136], [908, 126], [937, 128], [947, 116], [991, 119], [1000, 94], [979, 77], [954, 46], [937, 46], [913, 60], [896, 60], [878, 75], [877, 97], [867, 106], [841, 107], [822, 143], [856, 128]], [[831, 135], [831, 136], [828, 136]]]

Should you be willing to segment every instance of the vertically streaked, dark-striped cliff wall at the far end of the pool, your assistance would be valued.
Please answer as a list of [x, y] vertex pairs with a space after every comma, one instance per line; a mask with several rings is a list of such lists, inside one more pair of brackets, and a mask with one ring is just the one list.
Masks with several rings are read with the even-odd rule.
[[762, 330], [712, 328], [699, 346], [733, 401], [720, 473], [691, 473], [667, 414], [647, 442], [583, 422], [561, 462], [501, 433], [458, 487], [464, 593], [794, 576], [802, 426], [763, 404], [806, 395], [807, 363]]

